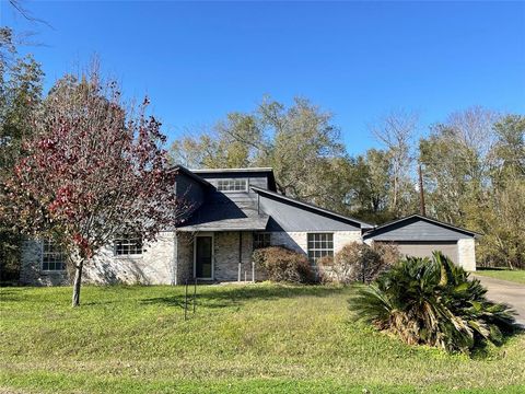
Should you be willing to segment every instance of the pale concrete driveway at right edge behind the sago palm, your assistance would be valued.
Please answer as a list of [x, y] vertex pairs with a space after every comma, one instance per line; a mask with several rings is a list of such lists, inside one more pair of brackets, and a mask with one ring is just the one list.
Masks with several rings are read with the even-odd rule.
[[525, 285], [508, 280], [488, 278], [472, 274], [487, 289], [487, 298], [492, 301], [504, 302], [517, 312], [516, 321], [525, 326]]

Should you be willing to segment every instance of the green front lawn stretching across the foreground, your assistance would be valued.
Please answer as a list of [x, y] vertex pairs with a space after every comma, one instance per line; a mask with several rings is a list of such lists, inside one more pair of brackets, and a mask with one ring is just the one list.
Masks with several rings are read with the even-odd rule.
[[523, 393], [525, 336], [483, 357], [410, 347], [351, 321], [353, 288], [0, 289], [0, 392]]

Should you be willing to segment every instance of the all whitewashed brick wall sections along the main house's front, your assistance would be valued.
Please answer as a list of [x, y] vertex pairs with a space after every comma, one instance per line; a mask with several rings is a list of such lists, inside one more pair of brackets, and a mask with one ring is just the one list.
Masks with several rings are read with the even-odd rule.
[[[350, 242], [361, 242], [360, 231], [334, 231], [334, 251], [337, 253]], [[272, 245], [284, 245], [307, 253], [307, 232], [272, 232]], [[243, 233], [242, 280], [244, 273], [252, 279], [252, 233]], [[194, 245], [191, 236], [163, 232], [158, 241], [144, 245], [145, 252], [137, 256], [114, 256], [108, 246], [84, 266], [83, 281], [92, 283], [182, 285], [192, 278]], [[30, 285], [67, 285], [68, 273], [42, 273], [42, 247], [38, 241], [26, 241], [22, 255], [21, 280]], [[214, 234], [214, 274], [217, 280], [238, 279], [238, 232]], [[257, 275], [260, 278], [260, 275]]]

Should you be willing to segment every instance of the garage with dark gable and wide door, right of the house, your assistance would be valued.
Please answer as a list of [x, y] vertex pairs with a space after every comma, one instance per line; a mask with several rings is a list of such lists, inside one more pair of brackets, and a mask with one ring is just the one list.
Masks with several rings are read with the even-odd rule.
[[466, 270], [476, 270], [476, 243], [479, 234], [412, 215], [366, 232], [364, 242], [394, 243], [404, 255], [430, 257], [433, 251], [441, 251]]

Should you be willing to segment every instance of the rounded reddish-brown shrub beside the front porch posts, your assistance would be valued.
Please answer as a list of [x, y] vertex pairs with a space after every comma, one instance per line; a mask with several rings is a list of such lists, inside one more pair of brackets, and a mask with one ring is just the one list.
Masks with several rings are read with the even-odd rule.
[[306, 256], [285, 247], [270, 246], [256, 250], [253, 259], [257, 267], [265, 269], [269, 280], [294, 283], [315, 281], [315, 273]]

